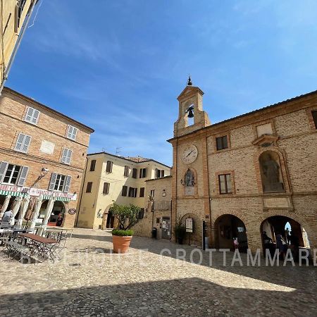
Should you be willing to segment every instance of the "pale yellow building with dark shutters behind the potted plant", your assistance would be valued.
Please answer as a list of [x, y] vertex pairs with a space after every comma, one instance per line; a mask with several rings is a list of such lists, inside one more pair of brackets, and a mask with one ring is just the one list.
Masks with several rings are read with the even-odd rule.
[[113, 228], [113, 203], [147, 204], [146, 181], [170, 175], [170, 167], [141, 157], [123, 157], [101, 152], [87, 155], [80, 189], [76, 224], [79, 228]]

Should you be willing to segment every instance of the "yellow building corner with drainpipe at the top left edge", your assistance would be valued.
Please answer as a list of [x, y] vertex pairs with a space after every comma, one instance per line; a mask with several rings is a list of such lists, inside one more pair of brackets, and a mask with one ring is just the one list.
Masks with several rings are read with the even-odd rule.
[[0, 94], [37, 0], [0, 0]]

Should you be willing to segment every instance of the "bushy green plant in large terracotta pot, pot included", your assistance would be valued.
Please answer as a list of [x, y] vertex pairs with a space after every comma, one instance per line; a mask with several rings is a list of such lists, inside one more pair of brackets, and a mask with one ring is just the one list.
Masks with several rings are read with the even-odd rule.
[[137, 223], [141, 208], [130, 204], [130, 206], [113, 204], [111, 212], [118, 219], [118, 228], [112, 230], [112, 243], [114, 253], [125, 253], [128, 251], [133, 236], [131, 227]]

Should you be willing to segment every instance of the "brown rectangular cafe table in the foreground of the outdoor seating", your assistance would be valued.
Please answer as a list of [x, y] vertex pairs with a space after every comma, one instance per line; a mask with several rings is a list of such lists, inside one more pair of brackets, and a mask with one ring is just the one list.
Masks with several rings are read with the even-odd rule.
[[32, 254], [37, 254], [42, 259], [50, 258], [54, 261], [54, 249], [58, 241], [33, 233], [20, 233], [19, 236], [25, 239], [25, 244], [29, 247]]

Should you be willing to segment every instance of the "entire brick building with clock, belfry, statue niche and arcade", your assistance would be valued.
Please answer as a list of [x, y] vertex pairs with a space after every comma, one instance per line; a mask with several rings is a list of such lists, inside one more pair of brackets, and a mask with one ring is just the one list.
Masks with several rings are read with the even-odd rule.
[[[187, 85], [174, 125], [171, 228], [192, 218], [192, 240], [240, 249], [275, 241], [285, 225], [301, 247], [317, 247], [317, 92], [211, 124], [203, 92]], [[194, 113], [189, 125], [188, 115]], [[155, 199], [154, 199], [155, 201]], [[200, 243], [201, 244], [201, 243]]]

